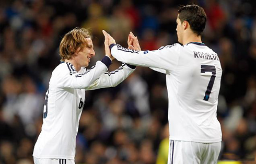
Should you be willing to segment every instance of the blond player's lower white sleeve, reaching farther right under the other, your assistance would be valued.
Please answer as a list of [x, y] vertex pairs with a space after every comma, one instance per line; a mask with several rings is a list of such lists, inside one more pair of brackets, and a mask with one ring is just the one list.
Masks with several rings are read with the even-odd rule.
[[111, 72], [106, 72], [94, 81], [87, 90], [94, 90], [99, 88], [115, 87], [125, 80], [131, 73], [135, 71], [135, 67], [129, 66], [126, 63]]

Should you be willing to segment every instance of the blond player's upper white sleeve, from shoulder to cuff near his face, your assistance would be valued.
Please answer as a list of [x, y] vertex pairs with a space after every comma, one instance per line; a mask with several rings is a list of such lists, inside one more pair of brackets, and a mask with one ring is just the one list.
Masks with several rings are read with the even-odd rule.
[[60, 88], [86, 89], [101, 75], [106, 73], [108, 66], [101, 61], [96, 62], [95, 66], [87, 69], [84, 73], [62, 72], [58, 76], [58, 86]]

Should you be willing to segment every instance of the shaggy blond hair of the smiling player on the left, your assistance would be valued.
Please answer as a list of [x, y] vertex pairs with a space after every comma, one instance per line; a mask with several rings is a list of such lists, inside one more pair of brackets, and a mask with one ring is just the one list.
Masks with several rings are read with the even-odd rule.
[[69, 60], [76, 53], [78, 48], [88, 46], [86, 38], [92, 38], [90, 32], [85, 28], [74, 28], [65, 34], [60, 43], [61, 61]]

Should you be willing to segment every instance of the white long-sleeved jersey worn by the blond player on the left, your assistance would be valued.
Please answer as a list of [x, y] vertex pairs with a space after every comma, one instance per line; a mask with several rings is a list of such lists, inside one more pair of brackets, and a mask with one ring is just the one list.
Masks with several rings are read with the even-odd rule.
[[34, 157], [74, 160], [85, 91], [117, 86], [135, 70], [123, 63], [115, 71], [106, 72], [106, 65], [98, 61], [91, 69], [82, 67], [78, 73], [71, 63], [61, 63], [54, 69], [45, 96], [42, 131], [34, 146]]

